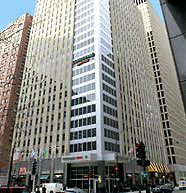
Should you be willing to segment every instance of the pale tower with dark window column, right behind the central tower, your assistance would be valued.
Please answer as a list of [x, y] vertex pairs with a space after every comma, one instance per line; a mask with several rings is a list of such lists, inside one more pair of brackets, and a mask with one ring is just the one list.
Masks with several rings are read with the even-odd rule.
[[145, 25], [161, 112], [169, 169], [176, 180], [186, 172], [186, 118], [165, 25], [150, 2], [135, 1]]

